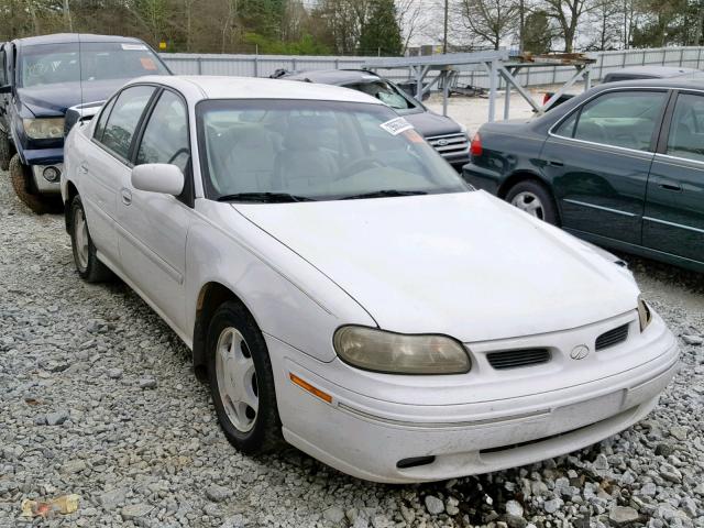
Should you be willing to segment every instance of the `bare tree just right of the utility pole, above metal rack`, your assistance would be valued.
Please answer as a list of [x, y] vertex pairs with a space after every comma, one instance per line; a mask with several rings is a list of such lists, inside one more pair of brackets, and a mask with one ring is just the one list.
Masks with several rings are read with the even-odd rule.
[[519, 4], [514, 0], [460, 0], [460, 19], [472, 33], [498, 50], [502, 41], [515, 32]]

